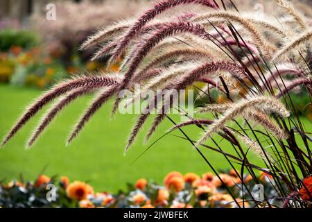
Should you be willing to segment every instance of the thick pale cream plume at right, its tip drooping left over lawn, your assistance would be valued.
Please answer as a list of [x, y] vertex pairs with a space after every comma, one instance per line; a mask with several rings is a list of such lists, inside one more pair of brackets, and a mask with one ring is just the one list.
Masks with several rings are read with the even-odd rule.
[[268, 96], [257, 96], [250, 99], [243, 99], [233, 104], [233, 107], [227, 110], [223, 117], [216, 119], [216, 121], [211, 124], [209, 130], [202, 135], [202, 137], [196, 142], [196, 146], [205, 142], [212, 133], [216, 133], [220, 128], [225, 126], [225, 123], [230, 119], [234, 119], [238, 115], [242, 114], [246, 109], [255, 109], [264, 113], [275, 112], [281, 117], [288, 117], [289, 112], [286, 110], [280, 101], [273, 97]]

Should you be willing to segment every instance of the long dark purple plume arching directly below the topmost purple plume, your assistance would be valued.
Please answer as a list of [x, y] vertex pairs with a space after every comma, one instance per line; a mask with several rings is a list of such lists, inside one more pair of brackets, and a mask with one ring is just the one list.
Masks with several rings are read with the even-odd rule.
[[[139, 47], [139, 49], [135, 53], [135, 56], [133, 56], [132, 58], [128, 71], [125, 73], [125, 77], [123, 78], [123, 82], [121, 83], [121, 86], [119, 87], [118, 94], [122, 89], [125, 89], [128, 86], [128, 83], [130, 82], [132, 75], [135, 73], [135, 71], [139, 67], [141, 60], [143, 60], [143, 58], [147, 55], [147, 53], [151, 49], [153, 49], [153, 47], [156, 44], [164, 40], [165, 37], [175, 35], [177, 33], [191, 33], [193, 35], [202, 37], [203, 39], [206, 39], [206, 40], [209, 40], [210, 38], [209, 33], [206, 33], [205, 29], [199, 25], [193, 25], [193, 24], [189, 24], [186, 22], [167, 24], [164, 28], [162, 28], [162, 30], [157, 31], [157, 33], [155, 33], [152, 37], [150, 37], [144, 44], [142, 44]], [[120, 101], [121, 99], [119, 98], [119, 96], [117, 96], [113, 109], [112, 109], [112, 116], [116, 112]]]

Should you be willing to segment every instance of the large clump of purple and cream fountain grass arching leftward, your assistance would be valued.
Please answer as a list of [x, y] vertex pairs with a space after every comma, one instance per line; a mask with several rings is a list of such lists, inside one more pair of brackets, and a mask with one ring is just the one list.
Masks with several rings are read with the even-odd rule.
[[[96, 46], [93, 59], [121, 59], [118, 74], [85, 75], [55, 85], [26, 108], [2, 145], [45, 105], [60, 97], [33, 131], [27, 146], [33, 145], [66, 105], [80, 96], [96, 93], [69, 135], [69, 144], [107, 101], [115, 100], [114, 115], [123, 101], [123, 90], [133, 92], [139, 85], [141, 94], [149, 90], [155, 94], [139, 94], [122, 103], [128, 106], [141, 100], [147, 104], [130, 132], [125, 151], [148, 118], [153, 117], [152, 112], [157, 111], [146, 141], [168, 119], [175, 124], [168, 133], [179, 130], [180, 138], [195, 148], [214, 173], [216, 169], [202, 149], [220, 153], [232, 168], [239, 164], [241, 176], [248, 171], [256, 183], [258, 170], [272, 178], [276, 195], [245, 200], [254, 207], [311, 206], [298, 193], [304, 186], [302, 180], [312, 172], [311, 137], [289, 95], [294, 89], [306, 88], [311, 101], [311, 18], [288, 1], [275, 3], [282, 13], [259, 19], [252, 12], [241, 13], [232, 1], [164, 0], [138, 18], [123, 19], [99, 30], [81, 49]], [[195, 5], [198, 7], [193, 11], [191, 6]], [[187, 7], [180, 11], [176, 10], [178, 6]], [[164, 13], [169, 10], [171, 13]], [[198, 83], [205, 86], [198, 87]], [[176, 107], [171, 98], [175, 90], [190, 87], [200, 91], [202, 108], [196, 113], [204, 115], [200, 119]], [[218, 101], [213, 94], [222, 96], [224, 101]], [[164, 103], [158, 105], [159, 101]], [[171, 109], [179, 110], [189, 121], [176, 124], [167, 114]], [[197, 140], [183, 129], [190, 125], [202, 130]], [[215, 134], [230, 142], [236, 155], [225, 152]], [[216, 146], [206, 145], [207, 140]], [[263, 163], [254, 164], [251, 152]], [[218, 173], [216, 176], [225, 182]], [[251, 191], [244, 184], [241, 189], [244, 200], [244, 192]]]

